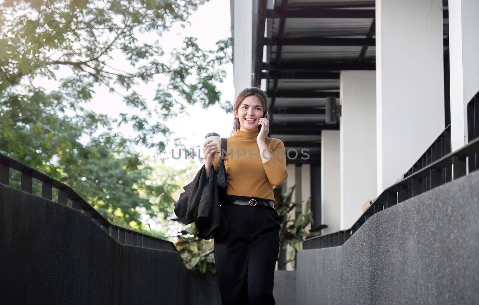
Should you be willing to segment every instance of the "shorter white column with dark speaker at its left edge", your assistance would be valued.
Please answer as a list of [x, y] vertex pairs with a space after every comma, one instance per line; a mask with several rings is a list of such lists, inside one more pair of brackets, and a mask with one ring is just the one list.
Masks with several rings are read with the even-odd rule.
[[341, 230], [345, 230], [361, 216], [365, 201], [377, 194], [376, 71], [341, 71], [340, 100]]

